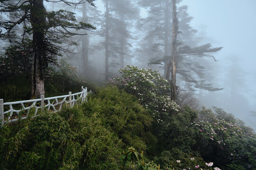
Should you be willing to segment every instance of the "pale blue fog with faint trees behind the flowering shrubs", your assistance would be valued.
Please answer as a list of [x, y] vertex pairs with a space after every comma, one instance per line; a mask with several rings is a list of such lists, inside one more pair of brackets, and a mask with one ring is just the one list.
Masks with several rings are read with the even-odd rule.
[[[176, 3], [179, 95], [195, 109], [222, 108], [256, 130], [256, 1]], [[49, 11], [72, 11], [96, 27], [79, 30], [87, 35], [73, 36], [79, 45], [70, 46], [73, 53], [66, 52], [62, 58], [77, 67], [81, 77], [100, 85], [126, 65], [151, 68], [165, 77], [172, 55], [171, 0], [95, 0], [94, 4], [74, 8], [45, 4]], [[10, 45], [7, 40], [0, 44]]]

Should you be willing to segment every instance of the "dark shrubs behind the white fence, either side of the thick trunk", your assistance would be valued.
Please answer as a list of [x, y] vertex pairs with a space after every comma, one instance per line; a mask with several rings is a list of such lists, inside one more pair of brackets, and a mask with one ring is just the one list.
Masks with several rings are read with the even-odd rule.
[[[31, 96], [31, 41], [26, 40], [5, 49], [0, 54], [0, 98], [4, 102], [28, 100]], [[81, 86], [95, 91], [95, 84], [78, 76], [76, 67], [61, 59], [57, 66], [49, 66], [45, 73], [45, 96], [81, 92]]]

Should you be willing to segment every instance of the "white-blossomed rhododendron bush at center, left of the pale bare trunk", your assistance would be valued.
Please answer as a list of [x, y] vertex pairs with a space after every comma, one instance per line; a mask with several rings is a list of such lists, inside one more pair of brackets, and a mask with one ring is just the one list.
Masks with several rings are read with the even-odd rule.
[[163, 121], [163, 115], [180, 110], [170, 98], [170, 83], [157, 71], [127, 65], [119, 73], [121, 77], [115, 76], [108, 83], [135, 95], [158, 122]]

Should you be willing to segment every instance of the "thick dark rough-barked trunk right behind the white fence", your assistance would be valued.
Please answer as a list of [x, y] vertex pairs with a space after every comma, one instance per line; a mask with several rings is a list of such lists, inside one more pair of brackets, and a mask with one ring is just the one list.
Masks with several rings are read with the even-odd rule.
[[46, 26], [46, 9], [43, 0], [32, 0], [30, 23], [33, 30], [33, 52], [32, 61], [32, 98], [40, 98], [45, 94], [44, 69], [46, 63], [46, 44], [44, 40], [44, 28]]

